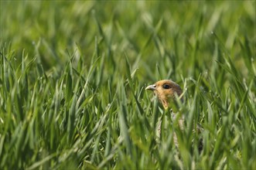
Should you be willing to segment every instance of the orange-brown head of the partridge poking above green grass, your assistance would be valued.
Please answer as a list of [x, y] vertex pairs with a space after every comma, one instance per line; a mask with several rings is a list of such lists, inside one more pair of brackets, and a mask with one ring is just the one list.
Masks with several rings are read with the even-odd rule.
[[179, 85], [172, 80], [160, 80], [149, 85], [145, 90], [152, 90], [165, 108], [169, 107], [169, 102], [175, 99], [175, 93], [178, 96], [183, 93]]

